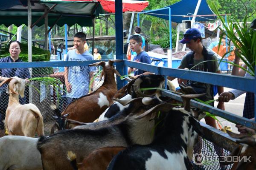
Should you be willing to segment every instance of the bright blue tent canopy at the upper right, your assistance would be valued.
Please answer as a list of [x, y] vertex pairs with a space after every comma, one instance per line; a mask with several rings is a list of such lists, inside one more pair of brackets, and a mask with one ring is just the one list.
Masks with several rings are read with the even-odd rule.
[[[198, 0], [181, 0], [177, 3], [172, 4], [171, 6], [166, 6], [165, 8], [160, 8], [152, 11], [145, 11], [145, 14], [148, 14], [147, 12], [149, 12], [150, 14], [148, 15], [169, 20], [169, 7], [171, 7], [172, 22], [182, 23], [182, 20], [189, 20], [189, 17], [173, 16], [173, 15], [193, 15], [195, 12], [197, 3], [198, 3]], [[164, 15], [157, 15], [157, 14], [164, 14]], [[208, 15], [208, 14], [214, 14], [214, 13], [211, 10], [211, 8], [209, 8], [206, 0], [202, 0], [200, 7], [198, 9], [197, 15]], [[215, 16], [196, 17], [195, 21], [207, 21], [207, 20], [215, 20], [215, 19], [216, 19]]]

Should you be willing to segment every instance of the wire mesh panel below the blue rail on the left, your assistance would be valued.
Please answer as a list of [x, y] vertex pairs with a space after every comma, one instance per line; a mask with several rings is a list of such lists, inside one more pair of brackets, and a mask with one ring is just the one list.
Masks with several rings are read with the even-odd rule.
[[[81, 66], [81, 68], [86, 68], [87, 66]], [[69, 67], [73, 69], [80, 69], [80, 66]], [[89, 67], [88, 67], [89, 68]], [[0, 68], [2, 70], [2, 68]], [[93, 73], [93, 77], [89, 77], [89, 70], [84, 72], [84, 75], [81, 76], [77, 72], [76, 77], [70, 77], [73, 80], [71, 83], [72, 90], [77, 91], [74, 95], [74, 99], [79, 98], [83, 95], [92, 92], [90, 91], [89, 84], [90, 80], [92, 85], [90, 87], [93, 88], [93, 91], [96, 91], [103, 83], [104, 77], [100, 81], [99, 71], [102, 68], [95, 67], [91, 73]], [[75, 72], [78, 70], [75, 70]], [[96, 76], [97, 75], [97, 76]], [[53, 111], [49, 108], [49, 105], [55, 104], [57, 108], [62, 111], [67, 107], [72, 99], [70, 99], [69, 93], [66, 91], [65, 78], [64, 78], [64, 67], [58, 68], [32, 68], [32, 78], [33, 77], [54, 77], [61, 81], [62, 84], [57, 84], [57, 87], [54, 85], [45, 85], [42, 82], [32, 81], [29, 86], [25, 88], [25, 98], [20, 98], [21, 104], [33, 103], [38, 109], [41, 111], [41, 114], [44, 118], [44, 133], [45, 135], [50, 134], [51, 127], [54, 123], [52, 116], [55, 116]], [[94, 79], [93, 79], [94, 78]], [[69, 79], [70, 80], [70, 79]], [[6, 89], [1, 91], [1, 99], [0, 99], [0, 121], [2, 122], [5, 119], [6, 108], [8, 105], [9, 96], [6, 93]], [[23, 102], [21, 102], [23, 100]], [[1, 127], [3, 129], [3, 125]]]

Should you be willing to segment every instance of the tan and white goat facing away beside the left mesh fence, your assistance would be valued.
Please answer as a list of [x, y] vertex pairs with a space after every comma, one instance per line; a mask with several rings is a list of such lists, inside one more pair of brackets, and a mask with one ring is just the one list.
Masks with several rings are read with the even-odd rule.
[[34, 137], [44, 135], [43, 116], [39, 109], [32, 103], [20, 105], [19, 94], [24, 97], [26, 81], [19, 77], [12, 77], [1, 82], [0, 86], [9, 82], [7, 93], [9, 103], [6, 109], [5, 124], [9, 135]]

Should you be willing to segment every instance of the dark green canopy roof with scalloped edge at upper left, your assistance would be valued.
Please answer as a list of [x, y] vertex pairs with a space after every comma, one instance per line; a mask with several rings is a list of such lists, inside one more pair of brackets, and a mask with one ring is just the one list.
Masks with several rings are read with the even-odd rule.
[[[14, 3], [15, 6], [0, 7], [0, 25], [4, 24], [7, 27], [12, 24], [16, 26], [20, 26], [22, 24], [27, 25], [27, 6], [26, 4], [24, 5], [22, 0], [19, 2], [21, 2], [19, 5]], [[56, 23], [58, 26], [63, 26], [64, 24], [73, 26], [75, 23], [78, 23], [80, 26], [93, 26], [93, 18], [104, 13], [99, 1], [34, 0], [32, 1], [32, 23], [35, 23], [35, 21], [37, 21], [44, 14], [45, 7], [49, 9], [54, 4], [57, 4], [57, 6], [55, 6], [52, 11], [48, 13], [48, 26], [52, 26], [56, 20], [58, 20]], [[42, 25], [44, 25], [44, 19], [36, 24], [36, 26]]]

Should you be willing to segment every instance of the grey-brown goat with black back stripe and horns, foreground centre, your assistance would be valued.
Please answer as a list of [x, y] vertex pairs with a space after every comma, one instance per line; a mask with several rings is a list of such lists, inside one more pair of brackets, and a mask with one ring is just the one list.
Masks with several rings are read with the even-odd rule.
[[[134, 119], [134, 115], [142, 114], [145, 110], [158, 105], [160, 101], [156, 98], [141, 97], [133, 99], [133, 103], [131, 109], [136, 113], [130, 113], [124, 119], [116, 119], [119, 122], [114, 122], [114, 125], [108, 124], [107, 127], [94, 130], [61, 130], [49, 137], [41, 137], [38, 150], [42, 156], [44, 170], [70, 170], [72, 167], [66, 158], [68, 151], [75, 153], [77, 161], [81, 162], [89, 153], [101, 147], [127, 147], [151, 143], [154, 139], [151, 132], [155, 125], [151, 117], [157, 113], [152, 112], [138, 120]], [[133, 115], [132, 119], [129, 115]]]

